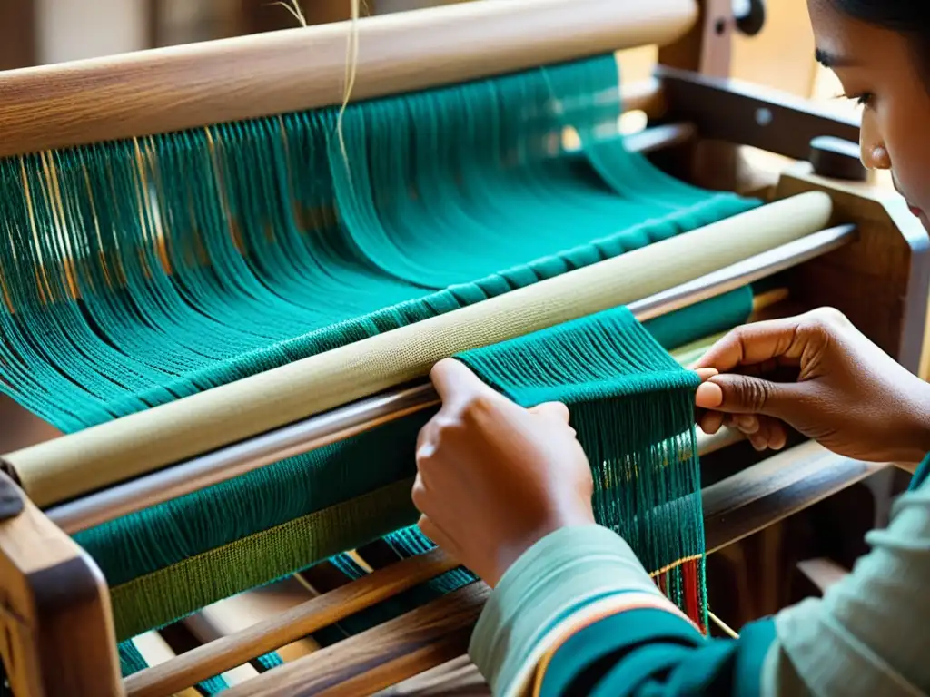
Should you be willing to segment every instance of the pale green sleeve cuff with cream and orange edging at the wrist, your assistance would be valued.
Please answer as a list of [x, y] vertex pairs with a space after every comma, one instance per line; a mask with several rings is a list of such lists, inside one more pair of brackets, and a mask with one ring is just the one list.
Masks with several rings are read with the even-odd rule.
[[[564, 528], [513, 564], [485, 605], [469, 653], [495, 695], [527, 694], [551, 654], [608, 615], [651, 608], [689, 622], [606, 528]], [[697, 628], [696, 628], [697, 629]]]

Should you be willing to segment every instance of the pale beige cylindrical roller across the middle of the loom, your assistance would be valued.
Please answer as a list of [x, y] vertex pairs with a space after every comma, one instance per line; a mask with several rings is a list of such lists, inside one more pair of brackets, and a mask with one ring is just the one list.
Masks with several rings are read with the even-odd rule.
[[349, 346], [7, 455], [50, 506], [427, 375], [458, 351], [651, 296], [825, 227], [808, 192]]

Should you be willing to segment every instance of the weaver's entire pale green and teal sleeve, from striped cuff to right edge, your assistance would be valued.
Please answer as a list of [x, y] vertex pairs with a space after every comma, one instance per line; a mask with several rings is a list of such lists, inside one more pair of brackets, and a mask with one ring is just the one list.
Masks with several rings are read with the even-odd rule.
[[492, 595], [472, 660], [498, 695], [918, 694], [930, 687], [930, 491], [906, 494], [875, 549], [823, 600], [702, 637], [616, 535], [553, 533]]

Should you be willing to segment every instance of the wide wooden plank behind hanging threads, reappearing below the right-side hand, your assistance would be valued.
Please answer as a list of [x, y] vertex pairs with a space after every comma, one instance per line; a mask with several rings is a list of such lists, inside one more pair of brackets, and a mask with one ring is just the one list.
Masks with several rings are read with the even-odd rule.
[[[749, 467], [701, 492], [707, 552], [811, 506], [883, 467], [888, 466], [831, 454], [813, 441]], [[465, 593], [470, 588], [476, 592]], [[463, 588], [324, 651], [276, 668], [231, 690], [230, 697], [318, 694], [324, 690], [332, 690], [325, 692], [329, 695], [371, 694], [385, 686], [386, 678], [399, 683], [419, 675], [449, 660], [447, 653], [440, 650], [443, 642], [473, 626], [487, 594], [486, 586], [480, 583]], [[466, 624], [466, 618], [472, 617], [468, 620], [471, 624]], [[431, 646], [438, 648], [426, 651]], [[371, 677], [366, 675], [369, 671], [373, 672]], [[337, 690], [347, 686], [354, 691]]]

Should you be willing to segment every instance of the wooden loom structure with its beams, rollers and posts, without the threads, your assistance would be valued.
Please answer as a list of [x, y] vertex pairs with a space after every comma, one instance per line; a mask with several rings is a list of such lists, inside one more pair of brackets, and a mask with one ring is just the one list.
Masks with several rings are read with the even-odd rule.
[[[293, 649], [293, 660], [249, 676], [230, 694], [448, 694], [461, 693], [463, 684], [468, 693], [480, 693], [480, 678], [460, 657], [487, 596], [481, 584], [326, 649], [300, 646], [312, 632], [453, 568], [455, 562], [439, 551], [385, 565], [377, 548], [359, 550], [359, 559], [371, 569], [364, 578], [329, 588], [318, 574], [312, 578], [316, 597], [284, 602], [279, 594], [277, 602], [265, 605], [282, 612], [257, 624], [230, 626], [230, 621], [220, 631], [218, 606], [213, 620], [205, 612], [186, 625], [188, 638], [199, 639], [200, 646], [178, 656], [171, 654], [188, 648], [181, 640], [170, 650], [156, 646], [153, 656], [161, 651], [166, 660], [123, 680], [107, 587], [69, 536], [94, 521], [345, 438], [430, 403], [429, 388], [397, 390], [422, 378], [442, 357], [423, 349], [424, 333], [455, 326], [467, 336], [470, 327], [493, 317], [503, 327], [494, 339], [503, 340], [624, 303], [648, 317], [777, 274], [792, 311], [841, 309], [917, 372], [930, 279], [923, 229], [901, 202], [884, 201], [853, 181], [862, 170], [844, 141], [857, 139], [855, 123], [725, 79], [734, 26], [728, 0], [647, 5], [485, 0], [364, 20], [354, 99], [658, 44], [655, 79], [625, 88], [627, 108], [642, 109], [650, 120], [647, 130], [631, 138], [631, 147], [652, 152], [657, 163], [682, 178], [703, 184], [712, 177], [732, 188], [739, 187], [736, 144], [801, 164], [757, 191], [772, 203], [749, 214], [419, 322], [389, 338], [379, 335], [273, 375], [121, 419], [126, 423], [118, 432], [108, 424], [33, 445], [54, 434], [2, 405], [0, 452], [32, 446], [10, 453], [7, 473], [0, 472], [0, 654], [15, 694], [183, 693], [199, 680], [284, 646]], [[0, 74], [0, 156], [339, 103], [346, 33], [345, 25], [334, 24]], [[824, 137], [834, 139], [812, 145]], [[804, 164], [807, 160], [813, 164]], [[664, 279], [672, 272], [683, 285], [663, 295], [670, 290]], [[521, 320], [527, 307], [539, 310], [537, 325]], [[463, 341], [461, 349], [469, 348]], [[379, 362], [398, 346], [412, 357], [403, 371], [386, 373], [378, 384], [347, 388], [353, 366]], [[314, 376], [319, 398], [312, 411], [304, 399], [307, 382], [299, 375]], [[260, 395], [271, 390], [277, 405], [272, 417], [246, 407], [230, 414], [221, 432], [203, 436], [198, 414], [211, 401], [258, 405]], [[170, 437], [163, 430], [159, 441], [146, 441], [133, 427], [142, 420], [161, 420]], [[6, 435], [10, 423], [27, 434], [26, 442]], [[869, 523], [883, 522], [895, 492], [888, 467], [829, 454], [809, 442], [761, 457], [738, 440], [724, 434], [703, 443], [702, 467], [713, 482], [703, 491], [709, 552], [733, 549], [751, 533], [867, 479], [874, 497]], [[134, 479], [110, 480], [106, 468], [69, 478], [69, 461], [88, 452], [102, 462], [128, 463], [122, 471], [132, 469], [127, 476]], [[260, 605], [260, 598], [255, 602]], [[427, 673], [443, 664], [445, 672]], [[405, 682], [409, 678], [414, 679]]]

